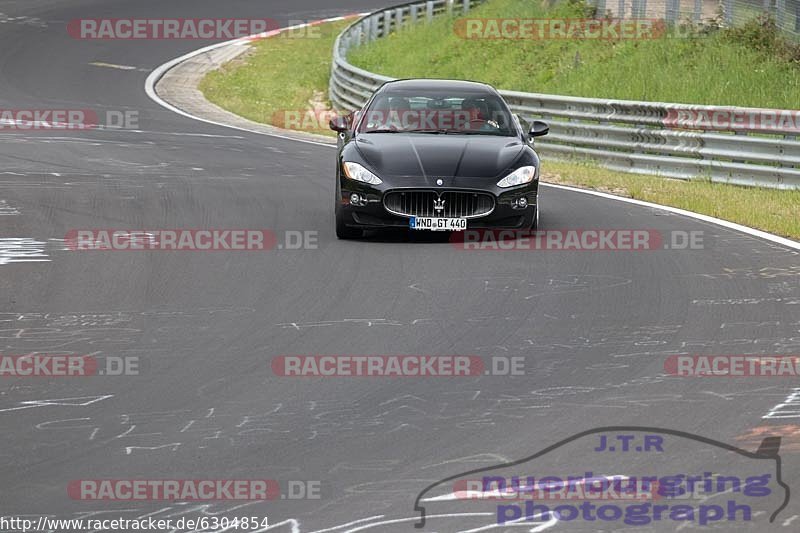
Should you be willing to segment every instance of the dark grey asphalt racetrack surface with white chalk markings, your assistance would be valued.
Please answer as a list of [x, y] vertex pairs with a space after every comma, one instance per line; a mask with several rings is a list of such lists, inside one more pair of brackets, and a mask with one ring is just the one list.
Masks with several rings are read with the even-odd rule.
[[[781, 435], [782, 479], [800, 487], [800, 411], [787, 407], [796, 377], [665, 372], [674, 354], [800, 353], [798, 250], [549, 186], [541, 190], [542, 230], [648, 229], [701, 235], [702, 246], [474, 251], [406, 233], [339, 241], [332, 149], [195, 121], [145, 94], [148, 73], [210, 41], [91, 41], [66, 31], [81, 17], [288, 22], [382, 6], [0, 2], [0, 108], [138, 114], [134, 129], [0, 129], [0, 353], [138, 358], [141, 368], [135, 376], [0, 378], [0, 515], [205, 513], [268, 517], [258, 531], [415, 531], [415, 502], [426, 487], [604, 426], [675, 430], [751, 452], [763, 437]], [[65, 236], [80, 228], [263, 228], [280, 244], [300, 232], [315, 235], [316, 245], [69, 250]], [[303, 354], [523, 358], [524, 372], [291, 378], [273, 371], [275, 357]], [[665, 437], [665, 446], [670, 438], [677, 439]], [[591, 443], [598, 446], [595, 437]], [[537, 464], [564, 476], [644, 472], [657, 462], [663, 472], [734, 475], [755, 461], [695, 444], [665, 447], [656, 460], [654, 451], [591, 455], [573, 443]], [[75, 498], [70, 484], [87, 479], [274, 479], [284, 497]], [[782, 507], [781, 493], [757, 503], [752, 522], [706, 528], [800, 529], [797, 500]], [[430, 501], [427, 514], [422, 531], [441, 533], [700, 528], [667, 519], [497, 524], [491, 502], [447, 498]]]

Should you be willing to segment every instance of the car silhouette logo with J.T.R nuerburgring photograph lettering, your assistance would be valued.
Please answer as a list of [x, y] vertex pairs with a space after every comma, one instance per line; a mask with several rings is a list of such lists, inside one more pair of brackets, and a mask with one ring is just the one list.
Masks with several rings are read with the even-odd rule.
[[[615, 435], [616, 439], [613, 439], [612, 437]], [[635, 445], [637, 439], [640, 446]], [[634, 445], [623, 443], [620, 446], [619, 443], [623, 441], [634, 442]], [[647, 461], [632, 461], [631, 457], [638, 456], [640, 453], [649, 453], [648, 449], [652, 451], [653, 448], [648, 448], [648, 441], [651, 441], [654, 448], [656, 447], [654, 443], [658, 444], [658, 453], [651, 453]], [[587, 443], [591, 443], [589, 448], [586, 448]], [[599, 446], [596, 446], [597, 444]], [[664, 444], [663, 448], [661, 444]], [[734, 498], [727, 502], [729, 508], [731, 505], [740, 505], [750, 509], [757, 504], [759, 507], [753, 508], [763, 511], [759, 514], [763, 515], [765, 521], [774, 522], [781, 511], [788, 506], [790, 497], [789, 485], [782, 478], [780, 447], [780, 436], [765, 437], [758, 450], [751, 452], [701, 435], [674, 429], [648, 426], [593, 428], [562, 439], [522, 459], [506, 460], [502, 463], [475, 468], [428, 485], [417, 494], [414, 510], [419, 513], [419, 516], [414, 527], [416, 529], [425, 528], [428, 516], [437, 521], [443, 517], [489, 516], [492, 517], [495, 526], [519, 523], [525, 520], [526, 522], [538, 521], [540, 527], [544, 524], [548, 524], [547, 527], [550, 527], [557, 522], [569, 522], [576, 518], [577, 512], [567, 509], [570, 498], [589, 500], [598, 498], [597, 494], [601, 494], [599, 498], [624, 502], [626, 497], [622, 496], [623, 490], [627, 491], [625, 494], [629, 501], [644, 502], [644, 506], [641, 507], [638, 505], [627, 507], [623, 514], [629, 511], [639, 512], [641, 509], [655, 508], [657, 506], [649, 502], [657, 499], [663, 500], [663, 503], [687, 504], [693, 500], [705, 502], [709, 494], [726, 494]], [[585, 453], [586, 451], [589, 452], [588, 455]], [[634, 456], [631, 456], [631, 453]], [[598, 468], [590, 466], [599, 459], [600, 456], [597, 454], [611, 458], [602, 460], [602, 466], [600, 466], [600, 462], [594, 463], [595, 466], [603, 469], [602, 472]], [[545, 456], [547, 458], [543, 459]], [[701, 457], [702, 459], [700, 459]], [[672, 470], [675, 468], [673, 465], [677, 464], [680, 465], [682, 471], [685, 471], [689, 458], [693, 461], [692, 468], [701, 471], [701, 477], [704, 479], [702, 484], [694, 487], [681, 485], [691, 476], [687, 477], [683, 474], [676, 476], [673, 475]], [[677, 462], [676, 459], [678, 459]], [[734, 459], [735, 461], [733, 461]], [[580, 461], [583, 460], [588, 460], [588, 463], [581, 463]], [[614, 461], [621, 462], [620, 468], [625, 469], [624, 475], [610, 470], [614, 469]], [[731, 471], [732, 469], [734, 470]], [[572, 470], [579, 473], [585, 472], [583, 480], [580, 477], [557, 475], [562, 471], [571, 474]], [[713, 474], [713, 472], [722, 472], [723, 470], [725, 475]], [[555, 477], [553, 477], [554, 474]], [[653, 483], [653, 485], [645, 486], [643, 474], [648, 476], [657, 474], [655, 477], [647, 478], [650, 480], [647, 483]], [[536, 475], [539, 475], [538, 482]], [[559, 481], [563, 479], [568, 481]], [[609, 487], [617, 487], [614, 483], [621, 483], [618, 481], [621, 479], [627, 480], [629, 483], [627, 488], [615, 488], [614, 490], [620, 491], [616, 495], [612, 495], [613, 491], [607, 492]], [[597, 491], [598, 482], [601, 486], [603, 482], [606, 483], [606, 486], [603, 487], [606, 492]], [[553, 483], [559, 483], [559, 485]], [[736, 488], [732, 488], [734, 485]], [[739, 490], [739, 486], [743, 488]], [[578, 487], [582, 488], [578, 489]], [[583, 490], [582, 495], [581, 490]], [[591, 495], [593, 492], [595, 496]], [[633, 499], [630, 497], [631, 494]], [[535, 504], [534, 500], [536, 500]], [[550, 500], [553, 500], [554, 505], [550, 505]], [[464, 513], [465, 505], [468, 505], [467, 513]], [[443, 506], [445, 508], [442, 508]], [[548, 506], [558, 510], [551, 515]], [[428, 514], [429, 507], [434, 511], [430, 515]], [[709, 510], [710, 507], [706, 507], [706, 509]], [[570, 515], [570, 513], [572, 514]], [[725, 516], [721, 506], [712, 514], [718, 515], [714, 520]], [[628, 523], [625, 520], [632, 516], [626, 515], [623, 522]], [[735, 519], [730, 516], [729, 514], [728, 520]], [[755, 517], [756, 514], [753, 513], [753, 516]], [[633, 517], [630, 523], [633, 524], [637, 520], [636, 517]], [[701, 518], [698, 517], [697, 520], [699, 523]], [[749, 521], [749, 514], [747, 518], [743, 517], [743, 520]], [[646, 518], [640, 523], [643, 524], [645, 521], [652, 522], [650, 518]], [[537, 527], [530, 531], [544, 529], [546, 528]], [[472, 531], [478, 530], [473, 529]]]

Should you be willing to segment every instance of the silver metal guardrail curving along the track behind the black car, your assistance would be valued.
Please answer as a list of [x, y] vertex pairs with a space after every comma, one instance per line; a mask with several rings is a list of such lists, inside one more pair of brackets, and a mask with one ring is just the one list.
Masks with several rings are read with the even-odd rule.
[[[351, 24], [334, 45], [329, 88], [334, 107], [360, 109], [375, 89], [393, 79], [351, 65], [348, 51], [406, 24], [467, 13], [483, 1], [414, 2], [376, 11]], [[550, 134], [537, 140], [537, 150], [550, 157], [588, 159], [614, 170], [668, 178], [800, 188], [798, 111], [776, 115], [776, 110], [768, 109], [500, 93], [524, 120], [540, 118], [550, 123]], [[775, 123], [748, 129], [732, 120], [755, 117], [769, 123], [775, 121], [770, 117], [780, 118], [780, 113], [789, 121], [782, 127]], [[698, 116], [728, 117], [730, 125], [716, 129], [700, 126]]]

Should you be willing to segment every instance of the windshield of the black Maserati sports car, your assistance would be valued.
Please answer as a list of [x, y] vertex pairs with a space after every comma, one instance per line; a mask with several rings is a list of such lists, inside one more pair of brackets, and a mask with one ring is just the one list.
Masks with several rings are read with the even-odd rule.
[[375, 97], [358, 131], [512, 136], [512, 121], [503, 100], [488, 92], [385, 91]]

